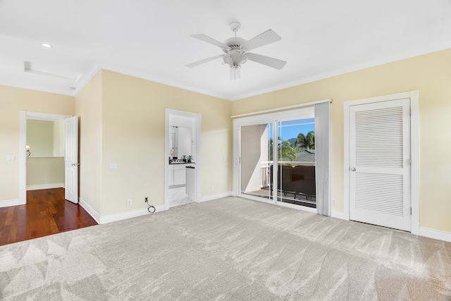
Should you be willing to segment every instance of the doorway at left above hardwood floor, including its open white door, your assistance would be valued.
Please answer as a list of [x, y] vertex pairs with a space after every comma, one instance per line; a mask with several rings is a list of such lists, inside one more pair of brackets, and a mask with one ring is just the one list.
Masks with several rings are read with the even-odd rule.
[[[47, 138], [33, 137], [32, 127], [38, 127], [37, 133], [46, 132]], [[19, 155], [18, 204], [26, 204], [27, 190], [58, 187], [65, 188], [66, 199], [78, 203], [78, 117], [20, 111], [20, 149], [24, 151]]]

